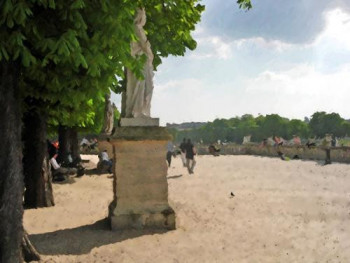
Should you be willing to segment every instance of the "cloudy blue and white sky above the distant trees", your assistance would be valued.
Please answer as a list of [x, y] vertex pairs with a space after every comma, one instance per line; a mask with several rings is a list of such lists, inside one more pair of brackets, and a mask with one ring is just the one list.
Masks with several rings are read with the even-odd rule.
[[252, 3], [245, 11], [235, 0], [202, 1], [197, 49], [155, 72], [151, 116], [161, 125], [316, 111], [350, 119], [350, 1]]

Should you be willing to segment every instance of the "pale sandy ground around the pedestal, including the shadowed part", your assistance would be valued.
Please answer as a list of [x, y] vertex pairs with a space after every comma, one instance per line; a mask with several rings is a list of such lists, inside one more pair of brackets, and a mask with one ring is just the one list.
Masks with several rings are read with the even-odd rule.
[[174, 231], [111, 232], [107, 174], [55, 184], [24, 226], [42, 262], [350, 262], [349, 165], [200, 156], [190, 176], [175, 158], [168, 184]]

